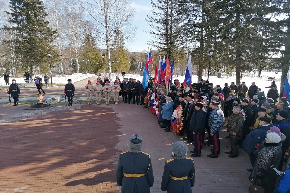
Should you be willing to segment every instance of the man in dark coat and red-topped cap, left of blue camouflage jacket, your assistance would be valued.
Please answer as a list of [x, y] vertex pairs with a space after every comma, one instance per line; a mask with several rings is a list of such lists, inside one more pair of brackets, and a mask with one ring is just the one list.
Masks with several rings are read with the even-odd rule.
[[203, 104], [201, 102], [195, 103], [195, 111], [193, 112], [190, 120], [189, 132], [193, 133], [194, 150], [191, 157], [200, 157], [202, 148], [202, 136], [204, 133], [206, 112], [202, 110]]

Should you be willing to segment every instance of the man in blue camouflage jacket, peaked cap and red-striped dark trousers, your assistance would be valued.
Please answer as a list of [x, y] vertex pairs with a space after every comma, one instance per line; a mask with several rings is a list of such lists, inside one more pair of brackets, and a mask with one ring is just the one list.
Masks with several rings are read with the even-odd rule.
[[207, 157], [218, 158], [220, 154], [220, 136], [219, 132], [222, 128], [222, 119], [224, 117], [224, 113], [220, 109], [221, 102], [213, 101], [209, 107], [211, 107], [212, 111], [209, 115], [208, 124], [211, 129], [211, 137], [213, 141], [213, 151], [212, 154], [207, 155]]

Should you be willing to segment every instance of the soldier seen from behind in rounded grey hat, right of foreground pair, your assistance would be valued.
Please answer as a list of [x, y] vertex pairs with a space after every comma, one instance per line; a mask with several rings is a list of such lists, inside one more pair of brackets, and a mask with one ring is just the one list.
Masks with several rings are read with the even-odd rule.
[[161, 181], [161, 190], [167, 193], [191, 193], [194, 186], [195, 172], [192, 158], [187, 155], [187, 145], [176, 141], [172, 146], [173, 158], [165, 162]]

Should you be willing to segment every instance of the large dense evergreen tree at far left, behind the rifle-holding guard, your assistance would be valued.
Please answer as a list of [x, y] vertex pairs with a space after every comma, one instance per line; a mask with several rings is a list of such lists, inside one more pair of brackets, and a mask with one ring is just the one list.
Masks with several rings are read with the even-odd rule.
[[44, 67], [49, 64], [47, 53], [51, 52], [53, 60], [59, 55], [49, 44], [57, 37], [57, 31], [48, 27], [46, 8], [40, 0], [10, 0], [11, 12], [6, 12], [11, 26], [3, 29], [15, 35], [12, 43], [17, 58], [33, 73], [33, 65]]

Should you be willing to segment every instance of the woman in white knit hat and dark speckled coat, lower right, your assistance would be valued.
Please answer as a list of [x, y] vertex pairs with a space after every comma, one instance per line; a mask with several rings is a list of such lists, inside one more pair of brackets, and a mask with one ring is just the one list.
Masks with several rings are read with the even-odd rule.
[[272, 193], [277, 179], [273, 168], [278, 168], [282, 156], [281, 137], [277, 133], [268, 133], [265, 140], [265, 147], [258, 153], [250, 181], [253, 184], [260, 183], [266, 193]]

